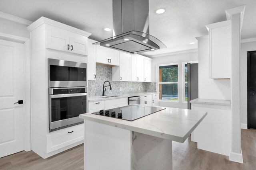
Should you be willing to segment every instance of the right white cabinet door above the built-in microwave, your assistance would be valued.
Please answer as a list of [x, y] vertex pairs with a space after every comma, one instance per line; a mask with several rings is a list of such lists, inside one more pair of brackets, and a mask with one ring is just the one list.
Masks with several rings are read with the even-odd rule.
[[70, 37], [70, 52], [71, 53], [88, 55], [87, 47], [88, 47], [88, 43], [85, 40], [82, 40], [82, 38], [76, 39], [76, 38]]

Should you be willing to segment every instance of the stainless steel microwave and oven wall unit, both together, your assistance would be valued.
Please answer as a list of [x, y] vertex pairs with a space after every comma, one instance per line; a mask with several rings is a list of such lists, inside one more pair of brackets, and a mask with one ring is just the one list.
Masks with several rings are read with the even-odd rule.
[[86, 63], [48, 59], [49, 131], [78, 125], [87, 111]]

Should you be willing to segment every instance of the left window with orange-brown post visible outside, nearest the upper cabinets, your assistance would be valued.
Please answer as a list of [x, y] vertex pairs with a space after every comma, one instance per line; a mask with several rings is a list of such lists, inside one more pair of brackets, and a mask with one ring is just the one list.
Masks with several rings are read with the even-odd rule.
[[158, 65], [159, 99], [178, 102], [178, 63]]

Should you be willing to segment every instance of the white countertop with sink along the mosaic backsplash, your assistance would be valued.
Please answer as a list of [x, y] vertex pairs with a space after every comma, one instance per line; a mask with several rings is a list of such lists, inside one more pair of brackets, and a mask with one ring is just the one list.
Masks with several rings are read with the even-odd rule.
[[[150, 94], [157, 94], [157, 93], [158, 92], [116, 94], [116, 97], [111, 97], [111, 98], [102, 98], [100, 96], [90, 96], [90, 97], [88, 97], [88, 102], [95, 102], [95, 101], [101, 101], [101, 100], [111, 100], [111, 99], [118, 99], [118, 98], [128, 98], [128, 97], [133, 97], [133, 96], [142, 96], [142, 95], [150, 95]], [[112, 96], [112, 95], [109, 95], [109, 96]]]

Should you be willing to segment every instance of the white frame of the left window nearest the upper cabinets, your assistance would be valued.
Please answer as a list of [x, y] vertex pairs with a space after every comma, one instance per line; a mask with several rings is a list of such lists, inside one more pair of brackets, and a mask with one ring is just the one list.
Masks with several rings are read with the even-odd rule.
[[[160, 66], [171, 66], [171, 65], [178, 65], [178, 82], [159, 82], [159, 67]], [[176, 101], [172, 100], [160, 100], [160, 95], [159, 95], [159, 101], [161, 102], [179, 102], [179, 63], [169, 63], [169, 64], [157, 64], [156, 65], [156, 91], [159, 93], [159, 83], [160, 84], [177, 84], [178, 88], [178, 98]]]

